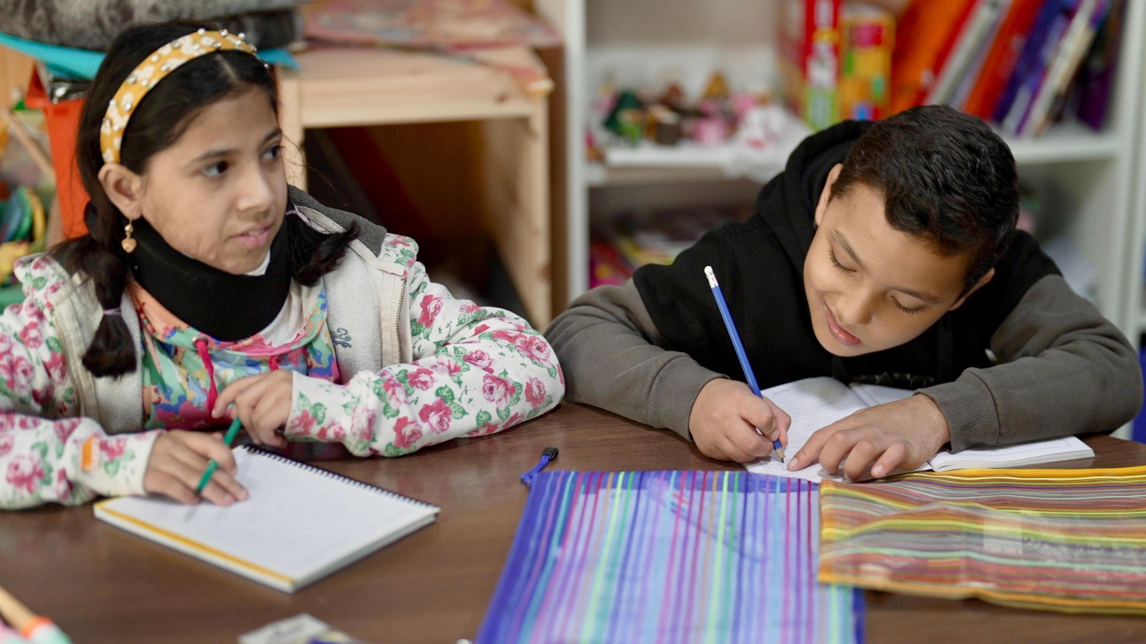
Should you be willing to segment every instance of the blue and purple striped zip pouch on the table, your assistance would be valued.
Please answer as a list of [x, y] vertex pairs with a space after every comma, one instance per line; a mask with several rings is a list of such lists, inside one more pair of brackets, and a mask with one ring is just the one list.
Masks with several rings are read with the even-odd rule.
[[748, 472], [537, 474], [478, 644], [858, 643], [816, 582], [816, 484]]

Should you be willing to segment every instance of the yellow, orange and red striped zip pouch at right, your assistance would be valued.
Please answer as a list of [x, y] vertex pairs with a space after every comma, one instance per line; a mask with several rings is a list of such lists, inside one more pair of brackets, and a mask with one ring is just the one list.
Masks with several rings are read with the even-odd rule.
[[1146, 614], [1146, 466], [824, 482], [821, 511], [821, 581]]

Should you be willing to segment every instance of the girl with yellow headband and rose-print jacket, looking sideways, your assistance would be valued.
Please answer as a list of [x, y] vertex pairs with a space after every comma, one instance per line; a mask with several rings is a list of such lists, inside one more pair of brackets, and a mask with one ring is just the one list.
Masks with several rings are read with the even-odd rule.
[[430, 282], [417, 245], [289, 187], [242, 34], [125, 31], [80, 119], [88, 234], [24, 259], [0, 316], [0, 508], [246, 496], [218, 434], [398, 456], [552, 408], [520, 317]]

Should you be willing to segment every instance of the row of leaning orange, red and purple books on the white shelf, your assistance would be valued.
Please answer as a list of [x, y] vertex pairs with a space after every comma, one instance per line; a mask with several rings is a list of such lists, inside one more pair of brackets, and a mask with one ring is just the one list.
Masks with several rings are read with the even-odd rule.
[[1124, 0], [915, 0], [900, 19], [892, 111], [949, 104], [1035, 136], [1106, 118]]

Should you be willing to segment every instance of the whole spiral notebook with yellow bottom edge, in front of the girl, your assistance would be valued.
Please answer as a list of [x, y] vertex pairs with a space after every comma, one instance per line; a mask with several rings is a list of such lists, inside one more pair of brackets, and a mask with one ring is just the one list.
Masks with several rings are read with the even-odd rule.
[[228, 508], [157, 496], [95, 504], [95, 517], [272, 588], [293, 592], [434, 521], [440, 510], [249, 446]]

